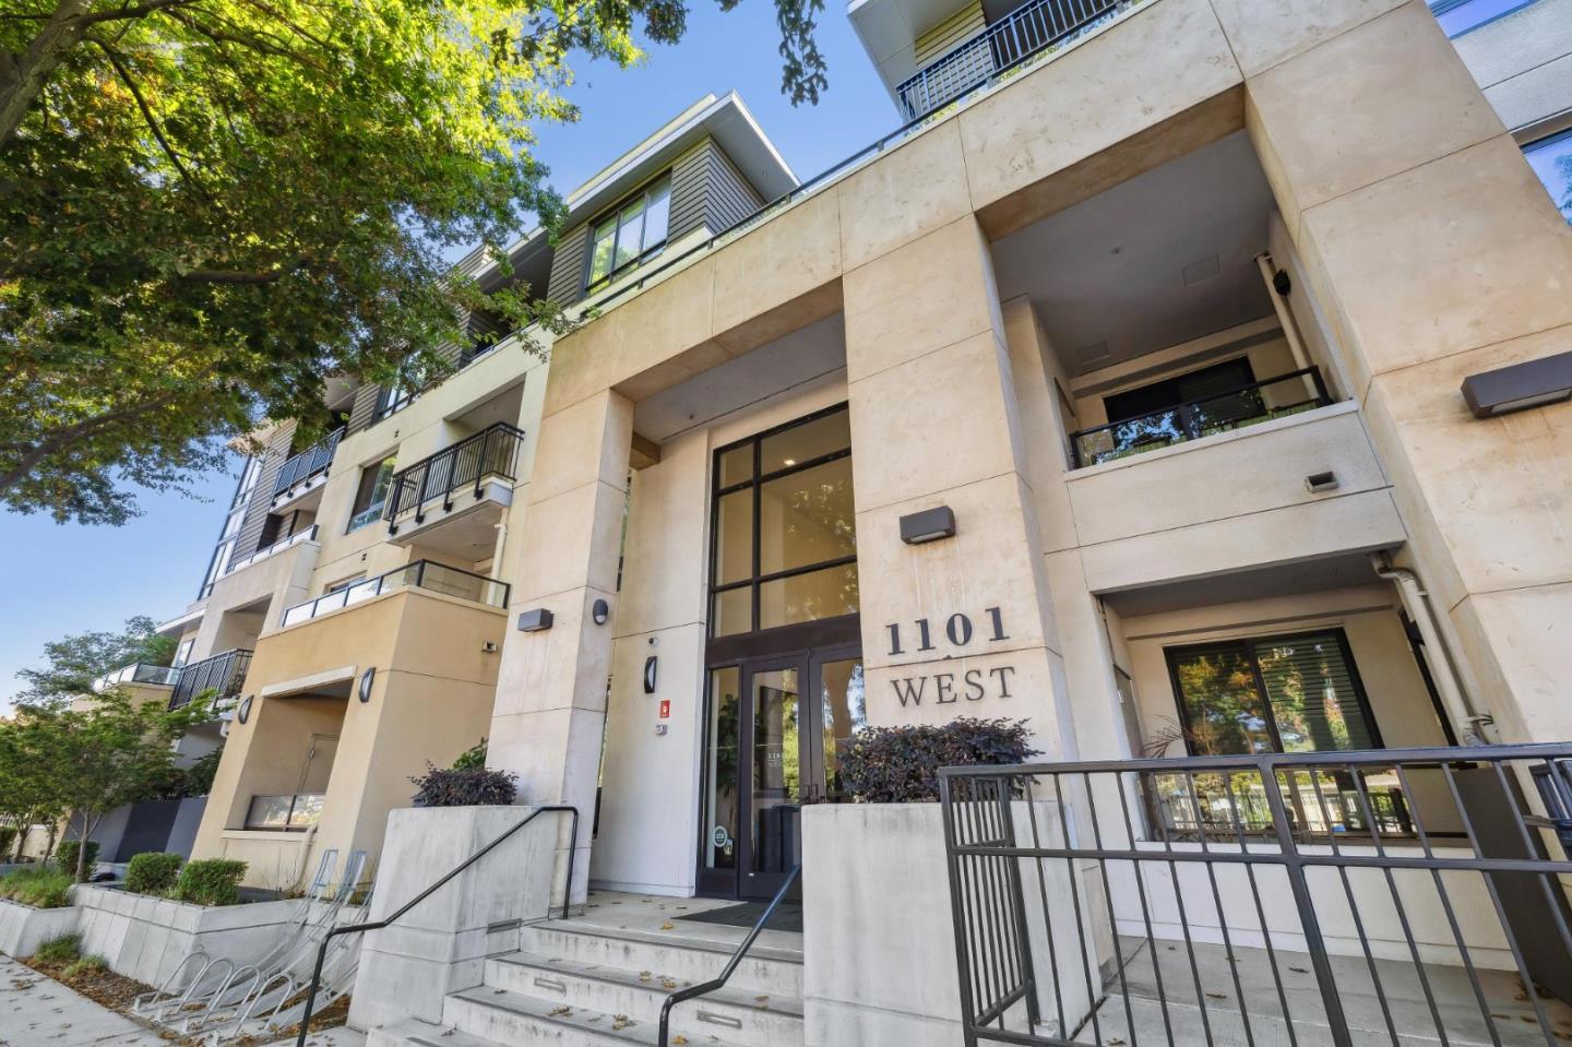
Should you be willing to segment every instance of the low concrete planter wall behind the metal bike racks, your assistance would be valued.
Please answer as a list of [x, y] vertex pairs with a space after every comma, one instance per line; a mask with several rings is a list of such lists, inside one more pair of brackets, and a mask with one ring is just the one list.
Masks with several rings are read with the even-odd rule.
[[300, 912], [297, 899], [209, 909], [88, 885], [77, 888], [75, 902], [82, 953], [102, 956], [116, 975], [149, 986], [162, 986], [198, 950], [236, 967], [261, 959]]

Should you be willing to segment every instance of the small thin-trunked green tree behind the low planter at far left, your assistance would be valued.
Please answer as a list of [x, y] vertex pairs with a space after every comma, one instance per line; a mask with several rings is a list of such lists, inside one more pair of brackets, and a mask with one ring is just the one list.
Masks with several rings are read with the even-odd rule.
[[[208, 718], [206, 696], [165, 709], [108, 692], [83, 709], [22, 706], [16, 720], [0, 725], [0, 742], [13, 733], [25, 739], [22, 751], [36, 764], [36, 788], [77, 839], [90, 839], [104, 814], [157, 794], [173, 773], [171, 744]], [[0, 744], [0, 753], [8, 748]], [[79, 850], [77, 879], [82, 874]]]

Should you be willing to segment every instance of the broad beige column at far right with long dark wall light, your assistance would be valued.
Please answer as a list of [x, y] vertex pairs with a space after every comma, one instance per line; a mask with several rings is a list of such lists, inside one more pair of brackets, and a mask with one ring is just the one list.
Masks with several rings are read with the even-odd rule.
[[1572, 346], [1572, 230], [1423, 3], [1297, 52], [1236, 6], [1251, 140], [1473, 703], [1501, 740], [1572, 737], [1572, 404], [1460, 393]]

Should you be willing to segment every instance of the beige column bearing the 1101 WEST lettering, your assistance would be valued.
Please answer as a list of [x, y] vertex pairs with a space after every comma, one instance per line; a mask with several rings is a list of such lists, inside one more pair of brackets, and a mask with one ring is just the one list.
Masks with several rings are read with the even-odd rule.
[[[1028, 718], [1074, 755], [987, 241], [965, 215], [846, 274], [868, 720]], [[901, 517], [956, 535], [909, 546]]]

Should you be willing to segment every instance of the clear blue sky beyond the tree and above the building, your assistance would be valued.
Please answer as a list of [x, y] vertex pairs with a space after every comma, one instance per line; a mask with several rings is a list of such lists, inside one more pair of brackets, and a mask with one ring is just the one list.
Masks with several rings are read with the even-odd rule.
[[[901, 123], [843, 0], [828, 0], [817, 39], [830, 90], [817, 107], [794, 108], [780, 93], [775, 8], [742, 0], [722, 13], [712, 0], [693, 0], [682, 42], [649, 47], [643, 64], [574, 61], [577, 79], [566, 94], [582, 119], [539, 127], [536, 156], [566, 195], [706, 93], [736, 90], [806, 181]], [[46, 641], [113, 630], [134, 615], [165, 621], [182, 613], [208, 568], [234, 479], [208, 478], [193, 490], [198, 500], [138, 490], [143, 514], [118, 528], [0, 509], [0, 712], [22, 689], [16, 671], [39, 663]]]

